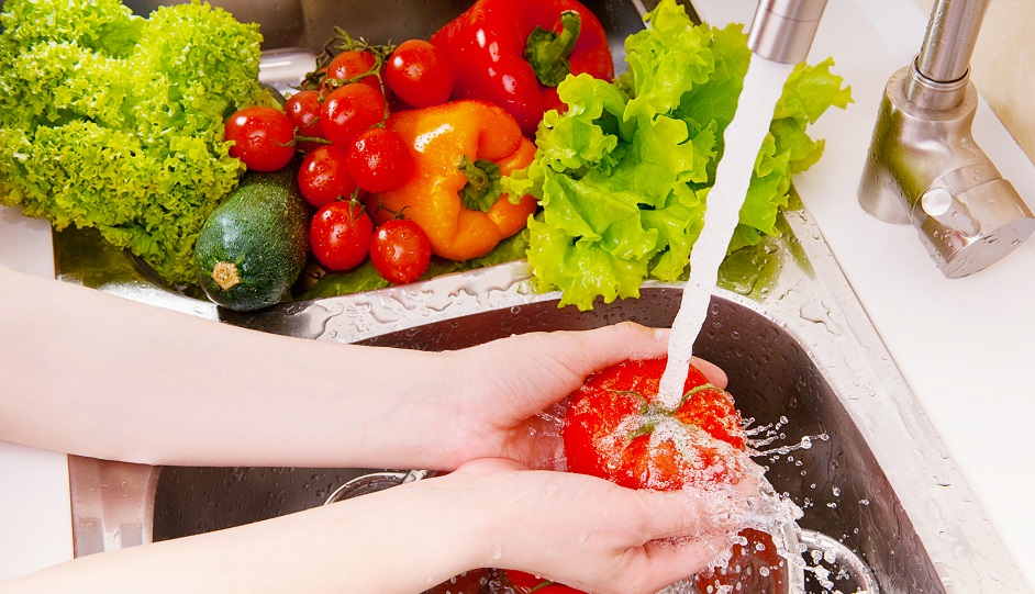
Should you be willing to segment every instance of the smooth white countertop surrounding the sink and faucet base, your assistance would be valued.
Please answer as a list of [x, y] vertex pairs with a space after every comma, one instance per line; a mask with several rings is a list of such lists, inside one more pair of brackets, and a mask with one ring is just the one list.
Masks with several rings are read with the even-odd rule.
[[[697, 0], [714, 24], [749, 22], [754, 0]], [[1035, 239], [991, 268], [947, 280], [910, 226], [881, 223], [856, 199], [888, 77], [919, 51], [926, 15], [913, 2], [833, 0], [811, 61], [833, 56], [855, 103], [813, 128], [826, 154], [795, 180], [888, 349], [1030, 585], [1035, 585], [1035, 474], [1024, 464], [1035, 412]], [[987, 105], [975, 137], [1035, 205], [1035, 166]], [[49, 233], [0, 210], [0, 261], [53, 276]], [[64, 456], [0, 442], [0, 579], [71, 558]]]

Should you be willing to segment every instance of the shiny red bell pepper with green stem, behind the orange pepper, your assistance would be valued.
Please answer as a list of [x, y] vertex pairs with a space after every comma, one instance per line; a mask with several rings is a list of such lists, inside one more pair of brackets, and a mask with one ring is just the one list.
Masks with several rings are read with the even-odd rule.
[[501, 105], [528, 137], [564, 108], [556, 87], [569, 72], [614, 78], [608, 34], [576, 0], [478, 0], [431, 43], [453, 65], [454, 99]]

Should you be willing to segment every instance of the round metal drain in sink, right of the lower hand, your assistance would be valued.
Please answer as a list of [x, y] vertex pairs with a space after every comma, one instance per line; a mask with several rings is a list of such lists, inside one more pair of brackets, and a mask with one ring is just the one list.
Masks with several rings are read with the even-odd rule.
[[826, 594], [880, 594], [870, 568], [841, 541], [815, 530], [801, 530], [805, 591]]

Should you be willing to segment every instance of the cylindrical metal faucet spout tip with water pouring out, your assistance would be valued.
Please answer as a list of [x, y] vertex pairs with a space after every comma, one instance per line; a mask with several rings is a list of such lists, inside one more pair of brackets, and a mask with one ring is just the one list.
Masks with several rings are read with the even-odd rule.
[[772, 61], [803, 61], [825, 8], [826, 0], [761, 0], [752, 20], [747, 46]]

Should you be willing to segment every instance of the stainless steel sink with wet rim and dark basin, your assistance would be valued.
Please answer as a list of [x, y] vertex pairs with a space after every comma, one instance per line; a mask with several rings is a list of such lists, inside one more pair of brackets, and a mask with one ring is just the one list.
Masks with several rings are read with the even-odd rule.
[[[312, 56], [333, 25], [375, 41], [426, 36], [468, 4], [396, 1], [390, 12], [399, 18], [389, 21], [380, 18], [383, 3], [223, 3], [243, 20], [269, 23], [264, 32], [271, 56]], [[625, 35], [642, 26], [643, 4], [588, 3], [613, 32], [620, 57]], [[127, 4], [143, 12], [153, 5]], [[378, 8], [365, 11], [365, 5]], [[296, 76], [276, 72], [283, 80]], [[803, 210], [789, 211], [782, 226], [782, 237], [734, 255], [748, 266], [723, 276], [697, 352], [726, 370], [744, 416], [755, 426], [771, 426], [778, 438], [759, 462], [777, 491], [803, 511], [806, 591], [873, 592], [866, 580], [875, 578], [884, 593], [1026, 592], [819, 229]], [[679, 284], [647, 283], [636, 300], [599, 304], [591, 312], [560, 309], [557, 294], [532, 289], [526, 265], [518, 261], [237, 314], [162, 287], [89, 232], [55, 234], [55, 257], [63, 280], [219, 323], [430, 350], [623, 320], [667, 326], [681, 294]], [[803, 447], [802, 438], [810, 438], [811, 447]], [[74, 457], [76, 554], [322, 505], [338, 486], [380, 470], [399, 470], [389, 477], [402, 480], [413, 469], [156, 468]], [[393, 484], [386, 481], [380, 486]], [[832, 573], [814, 551], [839, 556]]]

